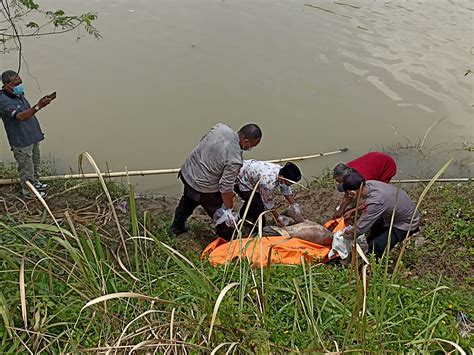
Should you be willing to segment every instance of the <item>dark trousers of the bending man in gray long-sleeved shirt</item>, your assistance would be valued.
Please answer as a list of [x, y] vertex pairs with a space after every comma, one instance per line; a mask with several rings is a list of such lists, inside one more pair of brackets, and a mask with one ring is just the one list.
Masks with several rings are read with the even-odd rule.
[[[179, 200], [174, 212], [173, 224], [179, 227], [185, 225], [186, 220], [193, 214], [198, 206], [202, 206], [209, 217], [214, 217], [214, 212], [222, 206], [222, 195], [220, 192], [203, 193], [193, 189], [180, 175], [184, 185], [183, 195]], [[227, 227], [224, 223], [216, 226], [216, 233], [224, 239], [231, 239], [233, 228]]]

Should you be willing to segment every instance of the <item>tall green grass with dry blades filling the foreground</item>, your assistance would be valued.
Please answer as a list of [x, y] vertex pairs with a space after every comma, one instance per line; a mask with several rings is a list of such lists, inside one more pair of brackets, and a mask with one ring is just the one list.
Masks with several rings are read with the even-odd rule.
[[[402, 256], [393, 273], [388, 255], [382, 262], [363, 255], [360, 268], [356, 253], [350, 269], [304, 261], [255, 269], [245, 258], [213, 268], [172, 248], [146, 215], [142, 223], [133, 190], [129, 201], [130, 228], [117, 217], [115, 243], [69, 214], [61, 223], [0, 223], [8, 240], [0, 245], [0, 351], [462, 353], [467, 346], [443, 325], [447, 287], [402, 279]], [[241, 229], [235, 237], [242, 241]]]

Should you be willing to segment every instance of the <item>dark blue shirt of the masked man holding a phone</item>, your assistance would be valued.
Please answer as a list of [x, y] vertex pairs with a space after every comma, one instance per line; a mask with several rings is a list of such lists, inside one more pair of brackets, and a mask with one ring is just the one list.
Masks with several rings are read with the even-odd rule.
[[0, 117], [5, 125], [11, 147], [23, 148], [44, 139], [36, 116], [25, 121], [16, 119], [17, 114], [30, 107], [30, 103], [24, 95], [8, 95], [3, 90], [0, 91]]

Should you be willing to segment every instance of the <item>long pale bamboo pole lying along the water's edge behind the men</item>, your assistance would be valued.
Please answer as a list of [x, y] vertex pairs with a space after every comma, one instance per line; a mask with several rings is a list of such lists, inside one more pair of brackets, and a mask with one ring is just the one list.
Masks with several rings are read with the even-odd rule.
[[[270, 163], [283, 163], [287, 161], [301, 161], [313, 158], [324, 157], [333, 154], [339, 154], [343, 152], [347, 152], [347, 148], [341, 148], [339, 150], [335, 150], [332, 152], [327, 153], [318, 153], [313, 155], [304, 155], [299, 157], [293, 158], [282, 158], [282, 159], [273, 159], [267, 160]], [[177, 174], [179, 172], [179, 168], [174, 169], [159, 169], [159, 170], [142, 170], [142, 171], [117, 171], [117, 172], [104, 172], [101, 175], [107, 178], [114, 178], [114, 177], [126, 177], [126, 176], [147, 176], [147, 175], [165, 175], [165, 174]], [[72, 179], [93, 179], [96, 178], [96, 173], [87, 173], [87, 174], [65, 174], [65, 175], [55, 175], [55, 176], [43, 176], [40, 178], [41, 181], [52, 181], [52, 180], [72, 180]], [[17, 184], [20, 180], [15, 179], [0, 179], [0, 185], [11, 185]]]

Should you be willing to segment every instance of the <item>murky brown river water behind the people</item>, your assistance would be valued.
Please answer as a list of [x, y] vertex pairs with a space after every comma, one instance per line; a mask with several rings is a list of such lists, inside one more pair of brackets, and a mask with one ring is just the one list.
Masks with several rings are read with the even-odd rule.
[[[23, 41], [29, 100], [57, 91], [38, 116], [42, 154], [58, 173], [77, 171], [83, 151], [104, 170], [179, 167], [215, 123], [256, 122], [263, 139], [248, 158], [350, 149], [301, 163], [307, 178], [370, 150], [391, 151], [402, 177], [431, 174], [450, 156], [460, 162], [452, 174], [472, 175], [473, 153], [461, 149], [474, 136], [474, 74], [466, 74], [474, 71], [472, 1], [40, 4], [97, 12], [103, 36]], [[2, 70], [15, 69], [17, 55], [1, 54]], [[419, 145], [439, 120], [415, 158], [404, 147]], [[0, 160], [12, 160], [4, 134]], [[180, 189], [174, 176], [134, 183], [140, 191]]]

